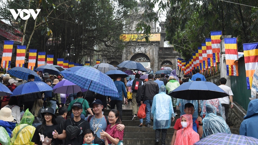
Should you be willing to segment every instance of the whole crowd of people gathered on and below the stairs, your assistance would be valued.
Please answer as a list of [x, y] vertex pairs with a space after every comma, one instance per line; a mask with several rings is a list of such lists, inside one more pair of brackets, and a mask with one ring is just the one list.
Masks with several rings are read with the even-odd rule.
[[[62, 80], [62, 75], [49, 75], [38, 72], [42, 81], [54, 87]], [[229, 133], [228, 111], [233, 108], [233, 93], [226, 86], [226, 79], [220, 79], [220, 88], [229, 96], [212, 100], [176, 99], [169, 95], [188, 81], [206, 81], [196, 69], [193, 76], [181, 80], [173, 70], [170, 75], [155, 75], [148, 72], [148, 78], [140, 79], [142, 74], [135, 73], [134, 78], [122, 79], [117, 76], [114, 84], [119, 97], [108, 97], [88, 91], [72, 94], [33, 93], [18, 97], [1, 97], [0, 145], [39, 144], [39, 145], [82, 145], [82, 144], [123, 144], [122, 123], [123, 106], [127, 105], [128, 92], [132, 99], [132, 120], [135, 120], [139, 107], [146, 105], [146, 124], [140, 119], [138, 127], [151, 127], [155, 130], [155, 145], [164, 145], [167, 129], [175, 121], [171, 145], [188, 145], [215, 133]], [[2, 83], [11, 91], [23, 80], [12, 79], [8, 74], [0, 74]], [[34, 81], [29, 75], [27, 82]], [[20, 84], [19, 84], [20, 82]], [[84, 97], [85, 96], [85, 99]], [[116, 106], [116, 109], [115, 109]], [[199, 107], [200, 106], [200, 107]], [[247, 115], [240, 127], [240, 134], [257, 137], [254, 121], [257, 119], [258, 99], [249, 103]], [[109, 107], [108, 116], [103, 110]], [[174, 120], [180, 110], [180, 118]], [[67, 114], [71, 112], [70, 118]], [[94, 113], [94, 114], [93, 114]], [[198, 113], [201, 113], [198, 116]], [[254, 128], [253, 128], [254, 127]], [[161, 133], [161, 137], [160, 137]]]

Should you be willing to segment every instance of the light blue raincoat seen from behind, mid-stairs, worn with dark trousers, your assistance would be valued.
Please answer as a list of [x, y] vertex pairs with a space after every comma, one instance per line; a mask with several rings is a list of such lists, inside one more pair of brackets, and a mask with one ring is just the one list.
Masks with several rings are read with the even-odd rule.
[[166, 94], [166, 87], [162, 85], [159, 93], [154, 96], [151, 115], [153, 116], [153, 129], [168, 129], [171, 125], [171, 115], [174, 115], [172, 100]]

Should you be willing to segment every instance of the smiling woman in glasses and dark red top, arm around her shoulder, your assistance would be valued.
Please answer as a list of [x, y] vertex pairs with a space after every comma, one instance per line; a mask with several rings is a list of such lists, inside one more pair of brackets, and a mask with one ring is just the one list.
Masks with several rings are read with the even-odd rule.
[[102, 132], [100, 132], [100, 137], [105, 140], [105, 145], [123, 144], [124, 131], [118, 131], [116, 129], [116, 126], [118, 124], [122, 124], [119, 118], [119, 111], [116, 109], [112, 109], [108, 114], [108, 121], [110, 124], [108, 124], [106, 128], [106, 132], [104, 132], [103, 130]]

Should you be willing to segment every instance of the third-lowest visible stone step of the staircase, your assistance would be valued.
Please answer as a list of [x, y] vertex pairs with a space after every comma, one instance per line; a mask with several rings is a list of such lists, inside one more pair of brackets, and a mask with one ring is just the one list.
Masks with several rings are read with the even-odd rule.
[[[140, 123], [139, 123], [140, 124]], [[170, 126], [169, 129], [167, 129], [167, 133], [174, 133], [174, 126]], [[124, 133], [145, 133], [145, 132], [149, 132], [149, 133], [152, 133], [152, 132], [155, 132], [155, 130], [153, 130], [153, 127], [135, 127], [135, 126], [126, 126], [125, 127], [125, 130], [124, 130]]]

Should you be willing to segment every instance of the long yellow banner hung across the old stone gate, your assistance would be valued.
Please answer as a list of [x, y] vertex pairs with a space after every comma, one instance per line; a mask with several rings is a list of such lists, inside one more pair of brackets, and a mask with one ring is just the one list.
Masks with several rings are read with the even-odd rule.
[[[123, 41], [145, 41], [145, 38], [142, 37], [143, 34], [122, 34], [120, 39]], [[150, 41], [160, 41], [160, 34], [151, 34], [149, 37]]]

